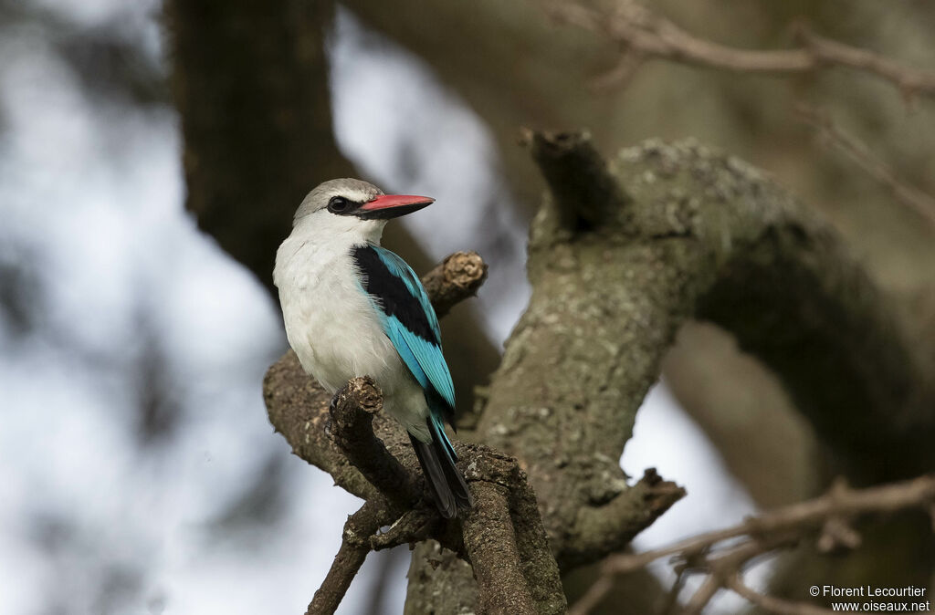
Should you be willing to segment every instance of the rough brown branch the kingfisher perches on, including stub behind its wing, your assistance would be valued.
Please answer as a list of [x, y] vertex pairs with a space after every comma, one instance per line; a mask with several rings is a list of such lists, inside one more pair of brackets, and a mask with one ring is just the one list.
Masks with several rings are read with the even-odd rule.
[[[433, 301], [450, 307], [475, 293], [485, 274], [486, 266], [476, 254], [455, 254], [426, 277], [426, 288]], [[439, 522], [426, 503], [410, 510], [412, 500], [422, 493], [422, 483], [413, 479], [418, 464], [404, 430], [380, 412], [381, 394], [372, 380], [353, 379], [329, 408], [327, 394], [290, 352], [267, 372], [265, 395], [270, 420], [295, 453], [331, 473], [352, 493], [367, 497], [365, 507], [345, 525], [338, 556], [309, 613], [337, 607], [367, 551], [427, 537], [452, 551], [467, 551], [475, 575], [482, 579], [482, 612], [564, 612], [558, 568], [535, 494], [515, 460], [479, 445], [455, 444], [472, 493], [480, 500], [461, 528], [457, 522]], [[401, 511], [407, 512], [400, 517]], [[377, 535], [390, 522], [389, 530]], [[493, 529], [510, 542], [491, 543]], [[503, 584], [506, 570], [513, 573], [509, 600]], [[511, 608], [503, 610], [504, 604]]]

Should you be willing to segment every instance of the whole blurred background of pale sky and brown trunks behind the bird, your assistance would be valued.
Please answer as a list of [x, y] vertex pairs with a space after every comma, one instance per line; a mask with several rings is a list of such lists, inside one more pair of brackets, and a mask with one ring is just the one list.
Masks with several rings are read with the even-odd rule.
[[[358, 501], [273, 434], [261, 379], [285, 350], [275, 250], [324, 179], [436, 197], [388, 229], [417, 271], [454, 250], [490, 264], [444, 323], [462, 408], [528, 295], [543, 184], [522, 126], [588, 128], [605, 152], [696, 137], [765, 168], [935, 331], [931, 223], [795, 112], [821, 107], [935, 193], [928, 100], [846, 71], [661, 62], [598, 89], [618, 47], [541, 2], [424, 4], [0, 0], [0, 613], [306, 608]], [[647, 5], [749, 48], [792, 45], [805, 18], [935, 69], [924, 0]], [[829, 478], [822, 455], [770, 374], [718, 329], [687, 326], [622, 464], [689, 494], [636, 547], [807, 497]], [[930, 574], [927, 552], [885, 574]], [[372, 554], [339, 612], [401, 613], [408, 560]], [[790, 567], [759, 566], [752, 584], [792, 587]], [[569, 578], [569, 594], [588, 579]], [[745, 608], [721, 596], [709, 610]]]

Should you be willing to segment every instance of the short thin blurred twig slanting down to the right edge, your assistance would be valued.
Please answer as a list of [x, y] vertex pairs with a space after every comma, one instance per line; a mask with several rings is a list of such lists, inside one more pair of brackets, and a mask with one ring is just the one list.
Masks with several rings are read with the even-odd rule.
[[841, 131], [824, 111], [808, 105], [798, 105], [796, 111], [803, 122], [818, 131], [824, 142], [841, 151], [870, 177], [883, 183], [900, 203], [912, 207], [929, 223], [935, 225], [935, 197], [900, 180], [888, 164], [874, 156], [870, 148], [856, 137]]

